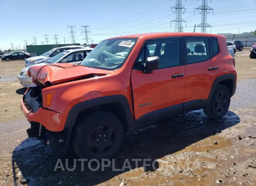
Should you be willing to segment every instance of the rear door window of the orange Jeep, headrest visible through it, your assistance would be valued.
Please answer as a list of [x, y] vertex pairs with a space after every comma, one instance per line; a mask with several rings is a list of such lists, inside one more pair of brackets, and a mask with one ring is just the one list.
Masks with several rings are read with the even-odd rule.
[[208, 38], [185, 37], [187, 45], [187, 63], [199, 63], [210, 59]]

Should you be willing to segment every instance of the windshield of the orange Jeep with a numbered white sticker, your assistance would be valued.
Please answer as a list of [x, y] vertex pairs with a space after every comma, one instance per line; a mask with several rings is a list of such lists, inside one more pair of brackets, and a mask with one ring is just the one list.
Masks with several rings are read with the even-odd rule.
[[[100, 42], [80, 65], [97, 69], [114, 70], [120, 68], [131, 53], [137, 38], [114, 38]], [[122, 56], [114, 55], [128, 50]]]

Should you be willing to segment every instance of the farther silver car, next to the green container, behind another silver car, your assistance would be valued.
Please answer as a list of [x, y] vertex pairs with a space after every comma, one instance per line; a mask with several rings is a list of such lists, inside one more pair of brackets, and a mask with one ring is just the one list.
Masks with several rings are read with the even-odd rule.
[[49, 59], [51, 59], [52, 57], [54, 57], [55, 55], [57, 55], [57, 54], [59, 54], [63, 51], [66, 51], [66, 50], [69, 50], [69, 49], [77, 49], [77, 48], [89, 48], [89, 47], [80, 46], [80, 45], [77, 45], [77, 46], [70, 45], [70, 46], [63, 46], [63, 47], [53, 48], [53, 49], [49, 50], [48, 52], [43, 53], [39, 56], [30, 57], [30, 58], [26, 59], [24, 61], [24, 64], [25, 64], [25, 67], [29, 67], [31, 65], [36, 65], [38, 63], [48, 61]]

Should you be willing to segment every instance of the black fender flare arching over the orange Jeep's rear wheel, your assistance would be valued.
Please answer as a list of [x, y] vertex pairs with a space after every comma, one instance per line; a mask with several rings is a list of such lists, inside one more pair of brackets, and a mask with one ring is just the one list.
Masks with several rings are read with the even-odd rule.
[[228, 80], [228, 79], [231, 79], [231, 80], [232, 80], [232, 83], [233, 83], [233, 85], [232, 85], [233, 90], [232, 90], [230, 96], [231, 96], [231, 97], [234, 96], [234, 94], [235, 94], [235, 92], [236, 92], [236, 75], [233, 74], [233, 73], [229, 73], [229, 74], [221, 75], [221, 76], [217, 77], [217, 78], [214, 80], [214, 82], [213, 82], [213, 84], [212, 84], [212, 88], [211, 88], [211, 90], [210, 90], [210, 94], [209, 94], [208, 99], [207, 99], [208, 101], [211, 100], [212, 94], [213, 94], [213, 92], [214, 92], [215, 87], [217, 86], [217, 84], [218, 84], [219, 82], [223, 81], [223, 80]]

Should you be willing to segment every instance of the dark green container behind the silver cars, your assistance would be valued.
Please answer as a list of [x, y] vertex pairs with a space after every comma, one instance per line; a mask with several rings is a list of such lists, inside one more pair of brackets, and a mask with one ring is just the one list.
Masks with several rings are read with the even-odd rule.
[[79, 43], [76, 44], [52, 44], [52, 45], [27, 45], [27, 52], [30, 53], [31, 57], [41, 55], [53, 48], [68, 46], [68, 45], [80, 45]]

